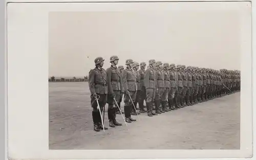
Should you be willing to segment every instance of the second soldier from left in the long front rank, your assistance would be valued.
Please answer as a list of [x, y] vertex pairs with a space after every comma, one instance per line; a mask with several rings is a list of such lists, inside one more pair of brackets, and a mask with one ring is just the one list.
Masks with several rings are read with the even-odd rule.
[[162, 107], [160, 107], [161, 100], [163, 97], [163, 93], [165, 90], [165, 81], [164, 81], [164, 73], [162, 71], [162, 62], [157, 61], [156, 62], [156, 76], [157, 76], [157, 91], [156, 91], [156, 97], [155, 97], [155, 106], [156, 106], [156, 113], [161, 114], [162, 112], [165, 112]]

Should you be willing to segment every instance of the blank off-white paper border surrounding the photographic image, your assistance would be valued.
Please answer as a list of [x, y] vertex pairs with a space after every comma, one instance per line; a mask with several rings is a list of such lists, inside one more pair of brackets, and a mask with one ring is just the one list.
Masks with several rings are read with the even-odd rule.
[[[49, 150], [48, 149], [48, 12], [127, 9], [124, 3], [8, 3], [8, 53], [2, 75], [8, 100], [8, 157], [12, 159], [121, 159], [121, 158], [243, 158], [252, 156], [252, 44], [250, 2], [222, 2], [221, 9], [241, 9], [241, 150]], [[25, 0], [23, 1], [25, 2]], [[30, 2], [30, 1], [27, 1]], [[35, 1], [33, 1], [35, 2]], [[46, 2], [46, 1], [45, 1]], [[63, 2], [63, 1], [62, 1]], [[143, 5], [144, 6], [143, 6]], [[211, 8], [216, 7], [210, 4]], [[23, 5], [24, 8], [20, 8]], [[135, 6], [134, 6], [135, 5]], [[194, 5], [194, 4], [193, 4]], [[83, 7], [82, 7], [83, 6]], [[88, 7], [89, 6], [89, 7]], [[141, 10], [153, 3], [126, 5]], [[145, 7], [146, 6], [146, 7]], [[154, 3], [156, 9], [167, 9], [167, 3]], [[142, 8], [141, 8], [142, 7]], [[255, 8], [255, 5], [254, 5]], [[181, 9], [176, 6], [172, 9]], [[191, 10], [191, 6], [189, 7]], [[203, 8], [201, 8], [203, 9]], [[205, 8], [204, 8], [205, 9]], [[220, 9], [218, 7], [218, 9]], [[33, 12], [33, 14], [31, 14]], [[36, 12], [35, 12], [36, 11]], [[255, 17], [255, 16], [254, 16]], [[255, 22], [255, 18], [253, 19]], [[255, 33], [254, 33], [255, 34]], [[25, 39], [26, 37], [26, 39]], [[40, 39], [41, 41], [36, 41]], [[255, 42], [253, 43], [255, 46]], [[254, 50], [253, 50], [254, 51]], [[255, 51], [254, 51], [255, 52]], [[8, 56], [8, 59], [7, 59]], [[7, 65], [8, 64], [8, 65]], [[8, 74], [6, 69], [8, 66]], [[33, 67], [31, 67], [33, 66]], [[24, 77], [33, 75], [36, 82]], [[7, 77], [8, 76], [8, 77]], [[8, 92], [6, 82], [8, 78]], [[1, 85], [2, 86], [2, 85]], [[4, 94], [3, 94], [4, 95]], [[2, 95], [1, 95], [2, 96]], [[2, 100], [2, 99], [0, 99]], [[3, 111], [4, 112], [4, 111]], [[32, 113], [32, 114], [31, 114]], [[100, 152], [99, 152], [100, 151]], [[147, 154], [151, 152], [151, 154]], [[157, 152], [157, 154], [153, 154]], [[100, 153], [100, 154], [93, 154]]]

